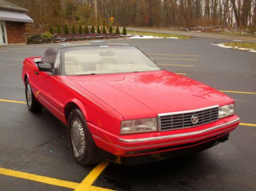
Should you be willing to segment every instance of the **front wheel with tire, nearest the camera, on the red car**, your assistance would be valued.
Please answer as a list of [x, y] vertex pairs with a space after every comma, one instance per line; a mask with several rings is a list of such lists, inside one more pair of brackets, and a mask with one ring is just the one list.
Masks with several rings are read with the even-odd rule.
[[68, 117], [68, 137], [76, 161], [83, 165], [98, 163], [102, 158], [80, 109], [73, 109]]

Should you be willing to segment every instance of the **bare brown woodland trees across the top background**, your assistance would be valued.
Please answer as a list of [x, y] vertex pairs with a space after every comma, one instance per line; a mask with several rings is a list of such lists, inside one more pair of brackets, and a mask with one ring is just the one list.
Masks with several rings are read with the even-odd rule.
[[[29, 9], [35, 25], [95, 25], [95, 0], [7, 0]], [[256, 0], [97, 0], [98, 23], [170, 27], [220, 25], [255, 30]]]

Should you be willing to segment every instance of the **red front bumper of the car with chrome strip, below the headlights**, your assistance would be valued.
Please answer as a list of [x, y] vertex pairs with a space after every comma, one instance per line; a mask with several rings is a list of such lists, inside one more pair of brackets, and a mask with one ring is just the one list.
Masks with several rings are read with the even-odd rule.
[[227, 140], [240, 118], [232, 115], [195, 128], [167, 132], [117, 136], [92, 124], [88, 127], [100, 153], [122, 164], [136, 164], [183, 156], [210, 148]]

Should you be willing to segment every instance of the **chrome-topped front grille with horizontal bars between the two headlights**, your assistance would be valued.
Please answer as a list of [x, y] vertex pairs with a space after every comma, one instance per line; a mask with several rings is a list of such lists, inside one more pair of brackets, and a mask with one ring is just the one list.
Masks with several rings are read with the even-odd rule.
[[[198, 122], [192, 123], [191, 117], [198, 116]], [[219, 107], [184, 112], [163, 113], [158, 115], [160, 131], [196, 127], [217, 121], [219, 118]]]

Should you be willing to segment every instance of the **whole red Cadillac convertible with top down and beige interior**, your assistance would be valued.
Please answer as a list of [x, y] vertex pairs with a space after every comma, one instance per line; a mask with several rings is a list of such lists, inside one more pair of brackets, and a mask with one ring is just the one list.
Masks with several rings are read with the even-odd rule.
[[228, 139], [238, 127], [224, 93], [156, 66], [133, 46], [49, 48], [26, 58], [28, 109], [68, 126], [81, 164], [138, 164], [180, 157]]

